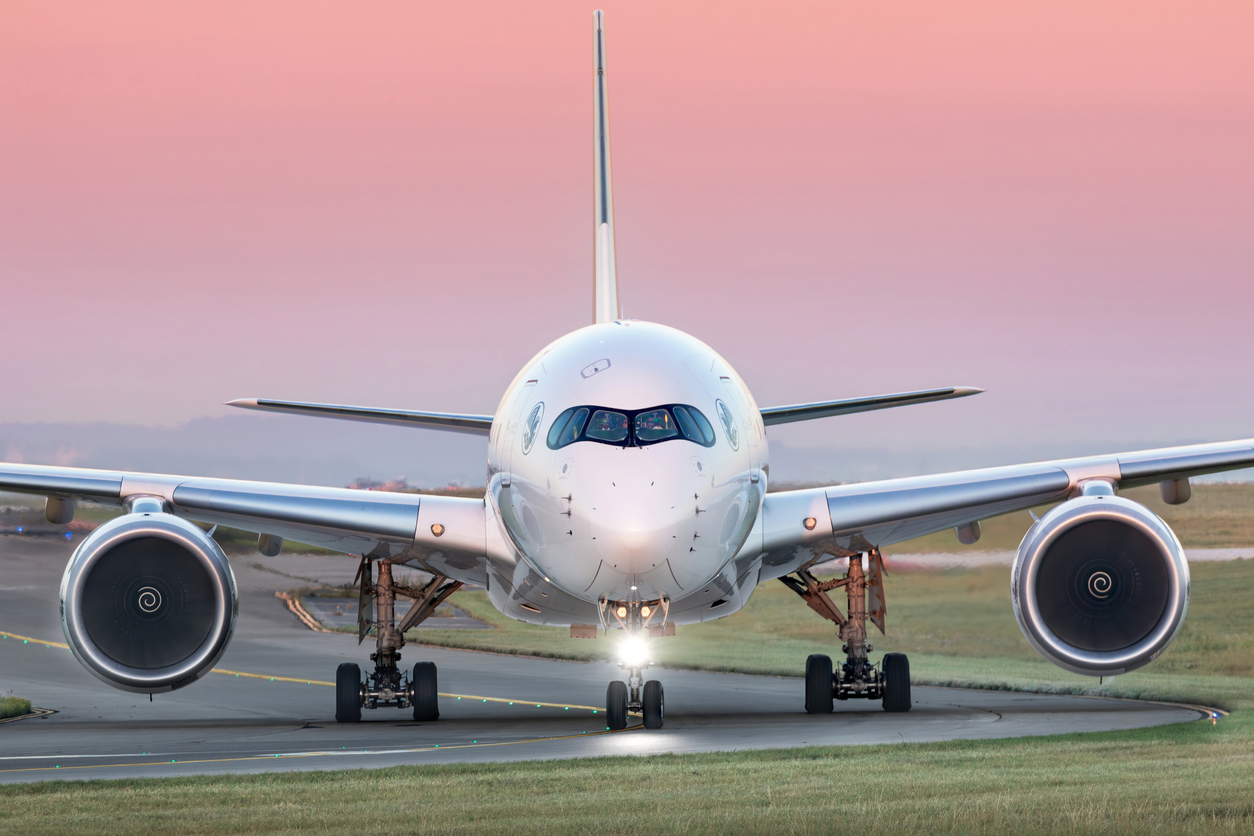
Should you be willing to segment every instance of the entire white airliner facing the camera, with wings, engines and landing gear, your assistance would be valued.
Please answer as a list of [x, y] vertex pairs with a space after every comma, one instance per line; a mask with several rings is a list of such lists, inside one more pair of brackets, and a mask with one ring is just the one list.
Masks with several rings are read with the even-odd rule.
[[[1189, 565], [1171, 529], [1119, 495], [1159, 484], [1188, 501], [1191, 476], [1254, 465], [1254, 439], [767, 493], [766, 427], [978, 394], [946, 387], [760, 409], [744, 380], [703, 342], [626, 320], [618, 303], [606, 44], [594, 13], [593, 322], [532, 357], [493, 415], [266, 399], [232, 406], [465, 432], [487, 437], [482, 499], [231, 479], [0, 464], [0, 490], [44, 495], [69, 523], [76, 503], [120, 506], [73, 553], [61, 579], [65, 640], [103, 682], [137, 693], [182, 688], [208, 673], [234, 630], [234, 577], [212, 529], [256, 533], [262, 554], [287, 540], [359, 560], [359, 644], [374, 632], [372, 669], [336, 671], [335, 717], [411, 708], [439, 717], [430, 662], [399, 664], [404, 634], [465, 584], [502, 613], [568, 629], [617, 632], [624, 678], [609, 682], [609, 728], [638, 712], [661, 728], [665, 692], [648, 678], [651, 640], [731, 615], [780, 580], [838, 628], [844, 659], [805, 662], [804, 707], [838, 699], [910, 708], [909, 661], [870, 658], [868, 622], [884, 629], [882, 549], [1057, 503], [1016, 554], [1011, 592], [1027, 642], [1092, 677], [1154, 661], [1180, 630]], [[1035, 516], [1035, 515], [1033, 515]], [[814, 569], [848, 558], [843, 578]], [[406, 587], [394, 567], [430, 575]], [[829, 593], [844, 589], [844, 610]], [[396, 595], [413, 599], [396, 617]]]

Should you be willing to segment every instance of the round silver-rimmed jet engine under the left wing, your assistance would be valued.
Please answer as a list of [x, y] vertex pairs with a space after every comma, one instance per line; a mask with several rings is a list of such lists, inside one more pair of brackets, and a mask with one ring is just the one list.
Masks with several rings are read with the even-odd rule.
[[213, 669], [238, 597], [221, 546], [184, 519], [134, 513], [93, 531], [61, 577], [61, 628], [79, 662], [123, 691], [161, 693]]

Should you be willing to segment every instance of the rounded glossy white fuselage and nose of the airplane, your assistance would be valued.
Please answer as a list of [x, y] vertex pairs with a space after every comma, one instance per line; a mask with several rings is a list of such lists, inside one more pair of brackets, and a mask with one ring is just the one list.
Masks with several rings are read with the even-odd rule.
[[[700, 411], [705, 435], [676, 405]], [[571, 441], [579, 427], [567, 426], [554, 444], [571, 409], [583, 436]], [[588, 437], [593, 419], [599, 439]], [[594, 624], [598, 600], [665, 599], [676, 623], [729, 614], [757, 580], [732, 558], [761, 508], [766, 461], [752, 395], [701, 341], [637, 321], [561, 337], [519, 372], [493, 421], [489, 516], [509, 556], [490, 562], [489, 594], [544, 624]]]

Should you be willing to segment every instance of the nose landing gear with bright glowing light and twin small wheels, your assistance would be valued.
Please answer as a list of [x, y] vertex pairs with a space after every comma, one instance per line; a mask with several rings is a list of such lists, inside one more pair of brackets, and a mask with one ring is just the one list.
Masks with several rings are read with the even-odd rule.
[[627, 682], [614, 679], [606, 688], [606, 726], [611, 731], [627, 728], [627, 717], [633, 711], [642, 714], [645, 728], [662, 727], [666, 693], [657, 679], [645, 679], [645, 673], [653, 667], [645, 637], [675, 634], [673, 625], [666, 623], [670, 603], [666, 598], [646, 602], [602, 599], [599, 603], [602, 627], [608, 628], [611, 620], [616, 620], [626, 633], [618, 667], [627, 671]]

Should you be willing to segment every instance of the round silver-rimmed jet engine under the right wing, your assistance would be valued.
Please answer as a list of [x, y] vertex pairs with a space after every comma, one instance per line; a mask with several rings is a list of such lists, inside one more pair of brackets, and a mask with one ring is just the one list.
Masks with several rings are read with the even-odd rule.
[[1060, 668], [1112, 677], [1156, 659], [1189, 609], [1175, 533], [1114, 495], [1066, 501], [1023, 536], [1011, 573], [1014, 617]]

